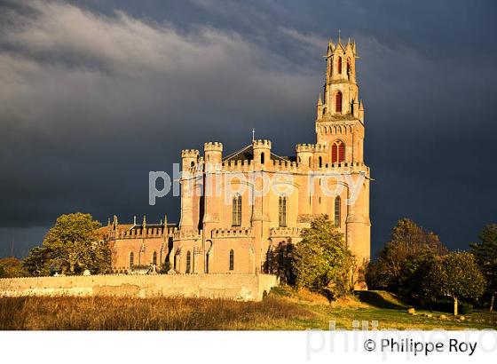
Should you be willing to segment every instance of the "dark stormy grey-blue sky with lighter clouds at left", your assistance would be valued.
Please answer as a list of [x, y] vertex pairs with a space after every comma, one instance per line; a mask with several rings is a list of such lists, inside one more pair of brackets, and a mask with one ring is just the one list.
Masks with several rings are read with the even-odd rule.
[[327, 40], [356, 39], [372, 250], [398, 218], [467, 249], [497, 222], [492, 1], [0, 0], [0, 257], [62, 213], [177, 222], [183, 148], [315, 141]]

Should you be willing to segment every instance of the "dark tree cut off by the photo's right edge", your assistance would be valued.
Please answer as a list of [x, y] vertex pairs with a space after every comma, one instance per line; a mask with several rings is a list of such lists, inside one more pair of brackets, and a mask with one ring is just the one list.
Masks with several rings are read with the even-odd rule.
[[477, 258], [482, 273], [485, 275], [487, 292], [490, 296], [489, 310], [492, 312], [497, 294], [497, 224], [485, 226], [479, 234], [479, 238], [480, 242], [469, 245]]

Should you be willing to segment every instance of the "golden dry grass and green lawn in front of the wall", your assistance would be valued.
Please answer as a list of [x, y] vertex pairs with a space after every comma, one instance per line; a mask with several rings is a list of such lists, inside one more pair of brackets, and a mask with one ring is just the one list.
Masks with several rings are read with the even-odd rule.
[[[384, 291], [360, 291], [330, 305], [307, 291], [273, 289], [262, 302], [195, 298], [15, 297], [0, 298], [0, 329], [302, 330], [353, 328], [365, 320], [377, 328], [497, 328], [497, 314], [474, 312], [465, 320], [450, 313], [418, 311]], [[439, 316], [445, 314], [446, 320]], [[357, 328], [357, 326], [356, 326]], [[370, 326], [371, 328], [371, 326]]]

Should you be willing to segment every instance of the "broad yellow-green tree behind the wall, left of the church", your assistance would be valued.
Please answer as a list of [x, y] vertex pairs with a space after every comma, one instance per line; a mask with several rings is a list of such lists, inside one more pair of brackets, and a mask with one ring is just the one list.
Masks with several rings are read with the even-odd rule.
[[31, 274], [51, 271], [75, 274], [89, 269], [105, 273], [110, 266], [110, 249], [99, 241], [100, 223], [90, 214], [61, 215], [45, 235], [42, 247], [31, 249], [24, 265]]

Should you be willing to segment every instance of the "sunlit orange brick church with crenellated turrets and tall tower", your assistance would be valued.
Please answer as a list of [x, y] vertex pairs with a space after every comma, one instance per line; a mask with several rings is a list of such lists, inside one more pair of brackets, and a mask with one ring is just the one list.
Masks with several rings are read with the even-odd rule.
[[[104, 233], [115, 272], [167, 265], [177, 273], [271, 273], [273, 251], [298, 243], [320, 214], [343, 232], [359, 264], [369, 259], [370, 178], [355, 42], [330, 42], [326, 59], [316, 143], [297, 145], [295, 156], [273, 154], [269, 140], [228, 155], [219, 142], [205, 143], [203, 155], [183, 150], [179, 224], [164, 218], [147, 225], [144, 218], [122, 226], [114, 218]], [[266, 180], [271, 188], [257, 193]]]

